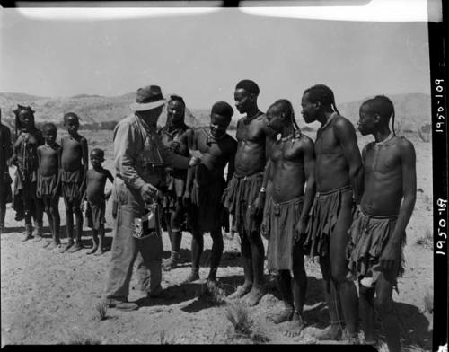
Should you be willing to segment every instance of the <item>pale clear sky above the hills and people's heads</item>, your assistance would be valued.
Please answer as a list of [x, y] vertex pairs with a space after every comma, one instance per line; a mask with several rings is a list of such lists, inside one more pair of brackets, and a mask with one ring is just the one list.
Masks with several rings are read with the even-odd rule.
[[189, 108], [233, 105], [260, 85], [260, 109], [328, 84], [337, 103], [429, 93], [427, 22], [347, 22], [217, 13], [109, 21], [33, 20], [0, 10], [0, 92], [119, 95], [158, 84]]

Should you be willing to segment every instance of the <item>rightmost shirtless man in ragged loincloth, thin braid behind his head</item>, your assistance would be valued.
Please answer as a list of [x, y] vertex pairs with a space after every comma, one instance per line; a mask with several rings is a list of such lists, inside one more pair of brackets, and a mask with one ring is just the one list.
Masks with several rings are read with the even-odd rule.
[[[392, 130], [389, 128], [392, 117]], [[375, 141], [365, 146], [365, 190], [349, 230], [348, 268], [358, 279], [365, 342], [374, 344], [374, 308], [380, 313], [388, 350], [401, 350], [392, 289], [401, 276], [405, 228], [417, 193], [413, 145], [394, 133], [392, 101], [380, 95], [360, 107], [358, 130]], [[374, 294], [376, 299], [374, 301]]]

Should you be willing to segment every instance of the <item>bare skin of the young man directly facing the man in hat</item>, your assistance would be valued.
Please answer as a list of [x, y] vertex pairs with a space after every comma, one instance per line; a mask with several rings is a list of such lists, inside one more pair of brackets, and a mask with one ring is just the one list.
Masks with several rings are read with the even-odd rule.
[[[201, 155], [201, 163], [207, 167], [211, 172], [211, 177], [214, 180], [223, 178], [225, 167], [228, 165], [227, 182], [233, 177], [233, 163], [237, 150], [237, 143], [233, 137], [226, 134], [230, 119], [218, 114], [212, 114], [210, 118], [209, 133], [216, 138], [216, 143], [207, 143], [207, 133], [204, 130], [189, 130], [187, 139], [189, 140], [189, 149], [198, 150]], [[183, 200], [186, 205], [189, 204], [189, 199], [192, 189], [194, 170], [189, 169], [187, 177], [186, 191]], [[199, 268], [199, 260], [203, 252], [204, 240], [203, 234], [198, 230], [200, 224], [195, 226], [192, 230], [192, 267]], [[210, 271], [207, 277], [209, 284], [216, 283], [216, 269], [223, 254], [223, 233], [221, 229], [221, 219], [216, 219], [216, 225], [211, 230], [212, 237], [212, 253], [210, 258]], [[193, 281], [198, 279], [197, 275], [190, 275], [186, 281]]]

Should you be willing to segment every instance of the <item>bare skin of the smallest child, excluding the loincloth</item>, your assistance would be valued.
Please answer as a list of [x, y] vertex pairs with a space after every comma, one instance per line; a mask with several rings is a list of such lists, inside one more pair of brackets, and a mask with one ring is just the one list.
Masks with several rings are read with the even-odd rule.
[[[109, 170], [103, 169], [101, 163], [104, 161], [102, 155], [95, 154], [95, 151], [91, 153], [91, 164], [92, 169], [88, 170], [86, 173], [86, 190], [83, 196], [82, 204], [84, 199], [95, 203], [101, 203], [104, 199], [109, 199], [112, 189], [110, 189], [106, 194], [104, 193], [104, 188], [106, 186], [106, 180], [110, 180], [111, 183], [114, 182], [114, 178]], [[92, 249], [87, 251], [86, 254], [101, 255], [104, 253], [104, 224], [100, 224], [99, 229], [92, 229]]]

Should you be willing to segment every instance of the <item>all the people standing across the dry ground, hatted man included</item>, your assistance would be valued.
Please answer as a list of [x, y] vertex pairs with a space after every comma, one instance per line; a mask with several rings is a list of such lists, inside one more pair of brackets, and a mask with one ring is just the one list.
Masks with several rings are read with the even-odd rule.
[[[207, 286], [216, 286], [224, 248], [222, 228], [230, 228], [240, 236], [244, 271], [244, 282], [228, 296], [230, 300], [242, 299], [256, 305], [266, 294], [264, 236], [269, 243], [268, 268], [277, 277], [285, 304], [284, 311], [269, 315], [271, 321], [288, 321], [290, 336], [304, 329], [304, 256], [318, 256], [330, 325], [316, 332], [315, 337], [341, 339], [346, 331], [348, 341], [357, 343], [360, 320], [365, 343], [374, 344], [375, 308], [381, 315], [389, 349], [399, 351], [400, 331], [392, 291], [403, 272], [405, 228], [416, 200], [416, 160], [409, 140], [394, 133], [392, 101], [379, 95], [360, 107], [358, 129], [364, 136], [374, 136], [374, 142], [365, 145], [360, 153], [356, 128], [339, 114], [328, 86], [316, 84], [306, 89], [301, 100], [305, 123], [321, 123], [315, 141], [298, 127], [290, 101], [277, 100], [264, 113], [258, 107], [259, 93], [258, 84], [251, 80], [236, 84], [235, 107], [245, 116], [237, 122], [234, 139], [226, 133], [233, 116], [233, 107], [227, 102], [217, 101], [212, 106], [208, 128], [189, 128], [184, 121], [186, 104], [180, 96], [172, 95], [167, 102], [159, 86], [140, 88], [132, 105], [134, 113], [119, 121], [114, 129], [115, 178], [110, 172], [101, 171], [103, 154], [91, 154], [97, 172], [89, 176], [87, 143], [76, 132], [75, 114], [65, 116], [69, 136], [63, 138], [61, 146], [54, 142], [56, 131], [52, 139], [51, 128], [43, 128], [46, 147], [59, 155], [59, 164], [53, 169], [53, 152], [40, 150], [40, 134], [31, 130], [19, 111], [16, 123], [25, 128], [28, 136], [17, 138], [14, 145], [14, 155], [19, 160], [17, 189], [27, 189], [36, 178], [36, 187], [49, 192], [29, 188], [31, 191], [23, 197], [26, 235], [31, 236], [31, 215], [36, 215], [38, 235], [41, 227], [40, 210], [28, 201], [48, 197], [46, 210], [54, 220], [57, 216], [51, 209], [55, 189], [62, 189], [67, 216], [75, 213], [75, 244], [68, 231], [68, 224], [73, 221], [70, 216], [67, 246], [77, 250], [83, 221], [80, 199], [96, 191], [101, 194], [97, 198], [104, 201], [109, 197], [104, 195], [104, 182], [110, 179], [115, 224], [103, 292], [110, 307], [138, 308], [136, 303], [128, 302], [136, 260], [141, 289], [147, 297], [164, 295], [162, 270], [177, 267], [183, 230], [193, 237], [192, 267], [185, 282], [199, 278], [203, 235], [210, 233], [213, 244]], [[158, 128], [165, 104], [167, 122]], [[2, 129], [2, 143], [6, 135]], [[30, 148], [36, 152], [26, 152]], [[18, 151], [29, 154], [20, 161], [22, 154]], [[9, 153], [2, 148], [2, 174], [7, 171], [4, 160], [10, 158]], [[42, 161], [47, 159], [53, 162]], [[46, 166], [33, 166], [42, 163]], [[26, 173], [38, 169], [58, 170], [58, 176], [39, 181], [42, 172]], [[4, 178], [2, 182], [0, 191], [5, 192], [3, 185], [8, 180]], [[45, 187], [39, 187], [42, 182]], [[92, 192], [90, 183], [96, 185]], [[137, 224], [154, 216], [151, 211], [148, 213], [151, 204], [158, 205], [162, 216], [154, 213], [155, 231], [142, 237]], [[94, 213], [104, 216], [104, 207], [91, 214]], [[53, 228], [57, 223], [51, 223]], [[164, 261], [161, 227], [169, 233], [172, 247], [170, 258]], [[104, 229], [100, 233], [104, 234]]]

